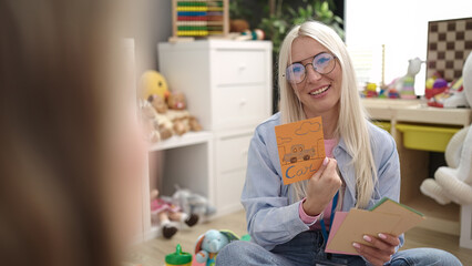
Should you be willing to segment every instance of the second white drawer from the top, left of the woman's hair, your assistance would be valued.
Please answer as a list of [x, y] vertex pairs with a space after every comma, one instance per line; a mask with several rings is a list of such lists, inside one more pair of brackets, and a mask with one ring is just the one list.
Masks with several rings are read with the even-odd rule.
[[237, 129], [267, 119], [270, 93], [264, 86], [220, 86], [215, 90], [215, 127]]

